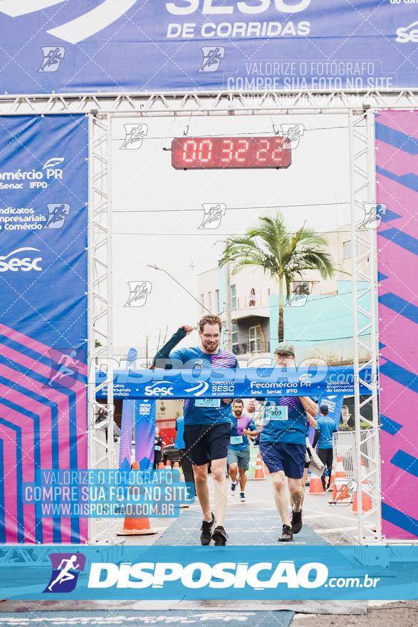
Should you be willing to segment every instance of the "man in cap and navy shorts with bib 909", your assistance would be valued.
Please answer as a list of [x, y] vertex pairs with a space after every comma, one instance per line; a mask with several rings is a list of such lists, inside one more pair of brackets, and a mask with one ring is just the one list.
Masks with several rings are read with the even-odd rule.
[[[274, 351], [276, 366], [286, 372], [295, 368], [295, 348], [291, 342], [281, 342]], [[260, 399], [261, 400], [261, 399]], [[308, 420], [315, 427], [318, 415], [316, 398], [293, 396], [292, 398], [266, 398], [263, 430], [260, 435], [260, 452], [263, 462], [271, 473], [273, 494], [278, 513], [281, 516], [283, 530], [280, 542], [293, 539], [302, 528], [301, 498], [305, 492], [302, 485], [306, 455], [306, 427]], [[254, 411], [257, 399], [250, 403], [248, 411]], [[288, 489], [293, 501], [292, 522], [288, 512], [286, 496], [286, 477]]]

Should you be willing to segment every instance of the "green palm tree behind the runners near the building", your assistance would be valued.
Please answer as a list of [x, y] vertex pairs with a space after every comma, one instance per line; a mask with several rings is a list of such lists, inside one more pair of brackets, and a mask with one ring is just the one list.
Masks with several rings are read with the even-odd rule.
[[261, 266], [263, 271], [278, 281], [278, 341], [283, 342], [283, 278], [286, 299], [291, 296], [291, 281], [303, 278], [306, 270], [318, 270], [323, 279], [333, 276], [335, 268], [328, 252], [326, 239], [313, 229], [303, 227], [292, 233], [286, 227], [281, 212], [259, 217], [245, 235], [229, 237], [219, 259], [219, 267], [234, 261], [236, 274], [245, 266]]

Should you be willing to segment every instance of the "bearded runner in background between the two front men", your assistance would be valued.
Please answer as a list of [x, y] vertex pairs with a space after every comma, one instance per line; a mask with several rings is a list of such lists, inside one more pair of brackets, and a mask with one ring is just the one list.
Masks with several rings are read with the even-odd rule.
[[[258, 435], [258, 429], [254, 425], [251, 416], [244, 413], [244, 400], [234, 398], [232, 403], [232, 416], [235, 419], [232, 423], [231, 440], [229, 441], [228, 457], [229, 477], [231, 477], [231, 494], [235, 496], [236, 486], [239, 484], [241, 492], [239, 500], [244, 502], [246, 486], [246, 470], [250, 465], [250, 445], [249, 435]], [[239, 479], [236, 478], [237, 473]]]

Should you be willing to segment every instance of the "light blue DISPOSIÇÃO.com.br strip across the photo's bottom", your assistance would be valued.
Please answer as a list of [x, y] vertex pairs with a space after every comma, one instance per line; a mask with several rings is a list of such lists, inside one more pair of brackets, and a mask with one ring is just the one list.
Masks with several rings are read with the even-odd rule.
[[[19, 563], [19, 546], [0, 561], [4, 599], [267, 601], [418, 598], [418, 547], [70, 546]], [[42, 553], [41, 553], [42, 551]], [[243, 556], [245, 561], [243, 560]], [[403, 558], [401, 560], [401, 558]], [[402, 563], [399, 563], [402, 561]], [[16, 576], [22, 569], [22, 585]], [[30, 579], [28, 572], [30, 571]]]

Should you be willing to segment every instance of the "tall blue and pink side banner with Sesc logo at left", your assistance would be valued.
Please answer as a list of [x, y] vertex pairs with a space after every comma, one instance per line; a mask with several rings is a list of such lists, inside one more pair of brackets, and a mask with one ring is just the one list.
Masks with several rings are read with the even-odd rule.
[[79, 544], [22, 485], [87, 467], [88, 118], [0, 118], [0, 192], [0, 543]]

